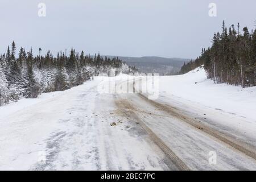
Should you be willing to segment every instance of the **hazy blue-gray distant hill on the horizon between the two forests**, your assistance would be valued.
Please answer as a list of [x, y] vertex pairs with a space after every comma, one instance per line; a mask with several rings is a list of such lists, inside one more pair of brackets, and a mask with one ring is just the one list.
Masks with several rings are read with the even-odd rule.
[[[117, 56], [107, 56], [110, 59]], [[158, 73], [159, 75], [174, 75], [180, 71], [184, 62], [189, 59], [165, 58], [156, 56], [145, 57], [124, 57], [118, 56], [119, 59], [126, 62], [127, 65], [135, 66], [141, 73]]]

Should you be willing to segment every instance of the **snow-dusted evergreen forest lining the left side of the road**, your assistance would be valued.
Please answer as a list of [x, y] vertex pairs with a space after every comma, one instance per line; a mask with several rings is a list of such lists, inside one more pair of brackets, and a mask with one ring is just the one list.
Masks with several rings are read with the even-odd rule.
[[109, 74], [110, 69], [115, 74], [138, 72], [118, 57], [90, 56], [73, 48], [69, 56], [61, 51], [57, 57], [53, 57], [51, 51], [42, 56], [41, 51], [39, 48], [39, 55], [34, 56], [32, 48], [28, 52], [20, 48], [18, 57], [15, 57], [13, 42], [11, 48], [8, 46], [6, 53], [0, 56], [0, 106], [23, 97], [35, 98], [41, 93], [72, 88], [90, 80], [91, 76]]

